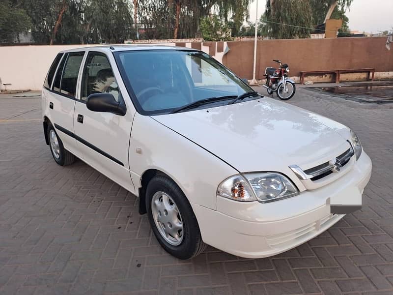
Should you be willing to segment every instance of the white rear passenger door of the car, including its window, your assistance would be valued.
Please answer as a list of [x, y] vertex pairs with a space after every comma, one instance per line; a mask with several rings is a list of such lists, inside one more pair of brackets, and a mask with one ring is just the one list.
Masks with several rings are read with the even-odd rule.
[[79, 155], [74, 133], [74, 108], [78, 74], [84, 52], [65, 53], [57, 67], [55, 81], [49, 94], [49, 114], [64, 148]]

